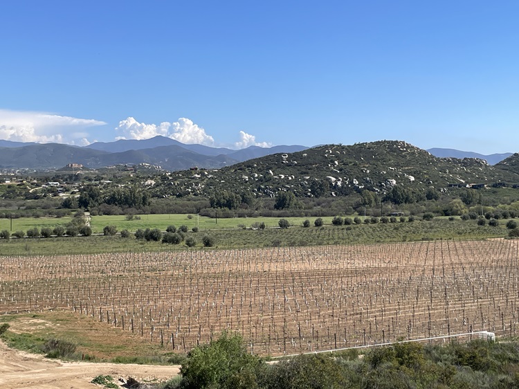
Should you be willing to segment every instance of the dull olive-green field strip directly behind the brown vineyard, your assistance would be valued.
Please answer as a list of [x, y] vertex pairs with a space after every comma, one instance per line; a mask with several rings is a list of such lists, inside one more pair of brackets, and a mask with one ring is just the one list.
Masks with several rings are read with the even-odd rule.
[[[104, 221], [111, 221], [111, 218], [116, 217], [105, 217]], [[145, 221], [145, 219], [143, 220]], [[171, 221], [172, 219], [165, 220]], [[185, 221], [188, 219], [179, 218], [178, 220]], [[228, 221], [236, 223], [237, 219], [228, 219]], [[271, 219], [273, 224], [274, 221], [277, 221], [277, 219]], [[187, 223], [186, 225], [189, 226]], [[51, 237], [47, 239], [0, 239], [0, 253], [1, 255], [48, 255], [49, 253], [95, 254], [199, 249], [203, 247], [202, 237], [204, 235], [210, 235], [215, 239], [215, 248], [372, 244], [417, 242], [434, 239], [486, 239], [506, 237], [508, 230], [504, 225], [504, 221], [501, 221], [497, 227], [491, 227], [488, 225], [477, 226], [475, 220], [462, 221], [458, 219], [449, 221], [448, 219], [437, 218], [432, 221], [416, 220], [413, 222], [406, 221], [389, 224], [353, 224], [351, 226], [331, 226], [327, 224], [322, 227], [314, 227], [312, 225], [309, 228], [294, 226], [286, 229], [266, 228], [265, 230], [245, 230], [243, 228], [204, 230], [201, 228], [198, 233], [189, 232], [187, 235], [197, 240], [197, 245], [194, 248], [188, 248], [183, 243], [176, 245], [146, 242], [145, 240], [135, 239], [133, 235], [128, 238], [122, 238], [120, 235], [113, 237], [93, 235], [91, 237]], [[124, 226], [124, 224], [121, 224], [121, 226]], [[155, 228], [156, 225], [141, 224], [135, 228], [143, 228], [145, 226]], [[162, 226], [163, 229], [165, 228], [164, 226]], [[219, 224], [219, 226], [221, 225]]]

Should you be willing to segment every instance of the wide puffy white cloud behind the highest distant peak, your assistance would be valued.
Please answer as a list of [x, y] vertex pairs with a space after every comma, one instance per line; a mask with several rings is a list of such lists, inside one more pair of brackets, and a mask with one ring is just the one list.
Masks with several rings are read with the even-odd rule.
[[163, 122], [160, 125], [139, 123], [134, 118], [126, 118], [119, 122], [116, 131], [122, 134], [117, 139], [149, 139], [154, 136], [167, 136], [185, 144], [212, 146], [215, 139], [206, 134], [206, 130], [194, 124], [188, 118], [179, 118], [174, 123]]

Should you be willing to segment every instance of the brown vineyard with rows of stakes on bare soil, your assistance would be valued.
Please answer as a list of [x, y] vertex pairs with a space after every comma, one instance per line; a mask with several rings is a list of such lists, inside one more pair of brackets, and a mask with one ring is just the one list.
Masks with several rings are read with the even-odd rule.
[[0, 314], [68, 310], [179, 352], [224, 329], [262, 355], [514, 335], [518, 290], [504, 239], [0, 257]]

